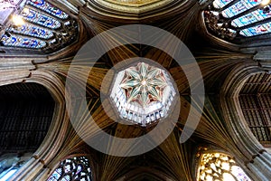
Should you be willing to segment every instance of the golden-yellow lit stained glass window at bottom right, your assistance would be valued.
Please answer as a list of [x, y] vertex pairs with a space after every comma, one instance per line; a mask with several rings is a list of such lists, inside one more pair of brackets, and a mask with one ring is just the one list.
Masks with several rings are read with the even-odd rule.
[[251, 181], [236, 161], [222, 153], [201, 156], [198, 181]]

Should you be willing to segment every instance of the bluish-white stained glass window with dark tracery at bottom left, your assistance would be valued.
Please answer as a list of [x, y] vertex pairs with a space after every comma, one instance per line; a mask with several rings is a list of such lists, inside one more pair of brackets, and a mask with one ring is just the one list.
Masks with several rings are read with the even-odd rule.
[[56, 168], [47, 181], [91, 181], [92, 174], [89, 160], [86, 157], [73, 157], [61, 162], [60, 167]]

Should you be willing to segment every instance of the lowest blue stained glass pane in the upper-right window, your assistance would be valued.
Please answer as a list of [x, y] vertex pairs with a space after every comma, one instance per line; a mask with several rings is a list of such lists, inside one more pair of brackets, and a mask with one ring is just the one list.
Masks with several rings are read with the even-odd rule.
[[257, 26], [253, 26], [250, 28], [246, 28], [242, 31], [240, 31], [241, 35], [244, 36], [255, 36], [258, 34], [263, 34], [263, 33], [271, 33], [271, 22], [268, 22], [266, 24], [261, 24]]

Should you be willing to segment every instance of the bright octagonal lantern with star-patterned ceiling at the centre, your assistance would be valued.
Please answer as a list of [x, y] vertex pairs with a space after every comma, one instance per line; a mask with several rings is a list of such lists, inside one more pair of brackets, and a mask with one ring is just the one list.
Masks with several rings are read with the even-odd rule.
[[167, 116], [175, 94], [166, 71], [139, 62], [117, 73], [110, 98], [121, 119], [146, 126]]

